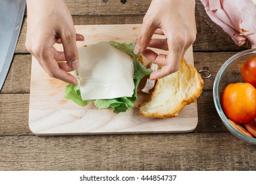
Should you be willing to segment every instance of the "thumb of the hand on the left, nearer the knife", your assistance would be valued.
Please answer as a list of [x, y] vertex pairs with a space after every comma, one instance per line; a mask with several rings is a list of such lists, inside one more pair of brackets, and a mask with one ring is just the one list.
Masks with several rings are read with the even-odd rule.
[[73, 69], [79, 67], [78, 49], [76, 47], [76, 32], [61, 36], [66, 62]]

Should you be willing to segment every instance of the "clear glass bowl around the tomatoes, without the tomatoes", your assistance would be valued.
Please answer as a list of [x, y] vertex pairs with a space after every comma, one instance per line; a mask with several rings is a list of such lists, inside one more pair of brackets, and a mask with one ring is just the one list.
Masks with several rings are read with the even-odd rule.
[[239, 139], [256, 145], [256, 138], [243, 134], [241, 131], [236, 129], [236, 127], [230, 124], [228, 118], [222, 110], [220, 103], [222, 92], [229, 83], [244, 82], [240, 74], [240, 66], [247, 59], [253, 57], [256, 57], [256, 49], [247, 49], [233, 55], [232, 57], [228, 58], [224, 64], [222, 64], [213, 83], [213, 100], [215, 103], [215, 108], [217, 109], [218, 115], [224, 123], [224, 126], [226, 126], [226, 128]]

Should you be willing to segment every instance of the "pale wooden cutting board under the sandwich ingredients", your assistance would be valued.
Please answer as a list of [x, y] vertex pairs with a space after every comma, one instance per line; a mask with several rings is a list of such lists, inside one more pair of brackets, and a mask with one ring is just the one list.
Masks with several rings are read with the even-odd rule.
[[[76, 32], [84, 35], [85, 41], [78, 47], [99, 41], [115, 40], [120, 43], [135, 41], [141, 24], [87, 25], [76, 26]], [[157, 36], [163, 37], [163, 36]], [[55, 45], [63, 50], [61, 45]], [[165, 51], [158, 51], [165, 53]], [[185, 58], [193, 64], [192, 47]], [[143, 58], [146, 60], [146, 58]], [[197, 103], [186, 106], [175, 118], [143, 118], [138, 115], [136, 106], [149, 95], [138, 91], [138, 101], [134, 108], [120, 114], [111, 109], [98, 110], [93, 103], [86, 107], [78, 106], [64, 99], [66, 83], [50, 78], [32, 57], [30, 85], [29, 126], [36, 135], [77, 135], [105, 133], [171, 133], [193, 131], [197, 126]]]

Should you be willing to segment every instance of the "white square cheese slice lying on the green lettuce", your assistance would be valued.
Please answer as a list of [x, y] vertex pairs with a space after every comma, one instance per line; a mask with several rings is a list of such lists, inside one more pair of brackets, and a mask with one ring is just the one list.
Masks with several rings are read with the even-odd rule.
[[78, 49], [80, 91], [82, 99], [132, 97], [134, 64], [126, 53], [107, 41]]

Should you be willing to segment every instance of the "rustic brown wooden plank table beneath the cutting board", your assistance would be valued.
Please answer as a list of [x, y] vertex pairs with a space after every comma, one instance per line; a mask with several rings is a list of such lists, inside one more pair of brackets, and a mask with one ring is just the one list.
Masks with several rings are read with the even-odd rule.
[[[66, 0], [74, 24], [138, 24], [150, 1]], [[214, 32], [196, 11], [195, 68], [209, 67], [191, 133], [38, 137], [28, 127], [32, 56], [26, 16], [13, 64], [0, 93], [0, 170], [256, 170], [256, 147], [223, 126], [213, 103], [222, 63], [242, 51]]]

